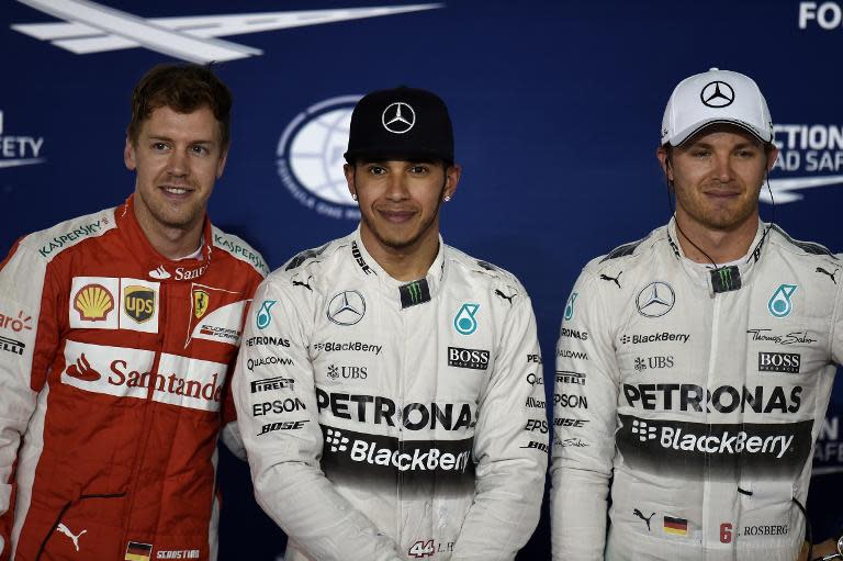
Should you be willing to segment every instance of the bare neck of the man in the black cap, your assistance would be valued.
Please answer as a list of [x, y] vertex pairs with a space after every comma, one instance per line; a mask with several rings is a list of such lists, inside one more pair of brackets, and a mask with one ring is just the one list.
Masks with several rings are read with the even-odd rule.
[[439, 228], [431, 225], [428, 232], [414, 243], [394, 247], [382, 243], [369, 228], [360, 228], [360, 239], [366, 250], [386, 273], [398, 281], [412, 281], [427, 274], [439, 253]]

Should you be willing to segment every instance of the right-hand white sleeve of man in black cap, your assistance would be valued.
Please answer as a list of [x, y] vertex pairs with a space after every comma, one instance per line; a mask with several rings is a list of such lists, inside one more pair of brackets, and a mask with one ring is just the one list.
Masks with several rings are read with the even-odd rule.
[[548, 468], [539, 352], [536, 318], [525, 294], [509, 310], [477, 404], [474, 503], [454, 545], [454, 561], [512, 560], [539, 521]]

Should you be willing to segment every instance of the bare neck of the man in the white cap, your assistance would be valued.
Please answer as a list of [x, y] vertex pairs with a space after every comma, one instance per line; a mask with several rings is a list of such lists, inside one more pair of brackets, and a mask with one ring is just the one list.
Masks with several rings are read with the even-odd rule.
[[682, 251], [697, 263], [713, 260], [716, 265], [722, 265], [740, 259], [750, 250], [758, 231], [757, 213], [731, 229], [711, 229], [678, 211], [675, 217]]

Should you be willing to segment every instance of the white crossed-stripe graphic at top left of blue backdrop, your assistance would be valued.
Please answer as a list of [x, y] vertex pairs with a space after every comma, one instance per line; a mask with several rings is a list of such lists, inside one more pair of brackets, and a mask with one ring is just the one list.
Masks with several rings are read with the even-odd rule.
[[442, 4], [382, 5], [286, 12], [140, 18], [88, 0], [19, 0], [65, 20], [61, 23], [19, 23], [11, 27], [77, 55], [145, 47], [198, 64], [262, 55], [259, 48], [218, 40], [261, 31], [284, 30], [363, 18], [441, 8]]

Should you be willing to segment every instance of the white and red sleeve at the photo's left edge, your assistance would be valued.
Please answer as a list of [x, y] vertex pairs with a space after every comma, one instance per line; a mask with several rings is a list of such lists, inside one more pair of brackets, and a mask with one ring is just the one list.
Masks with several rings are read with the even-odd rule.
[[[21, 245], [0, 263], [0, 560], [11, 554], [12, 490], [18, 449], [47, 367], [58, 328], [46, 262]], [[42, 298], [43, 296], [43, 298]]]

